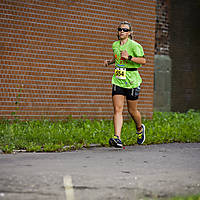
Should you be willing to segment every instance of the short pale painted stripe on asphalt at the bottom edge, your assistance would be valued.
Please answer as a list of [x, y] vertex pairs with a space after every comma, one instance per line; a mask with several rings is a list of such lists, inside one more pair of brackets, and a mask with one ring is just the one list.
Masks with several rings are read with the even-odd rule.
[[74, 200], [74, 189], [71, 176], [64, 176], [63, 183], [67, 200]]

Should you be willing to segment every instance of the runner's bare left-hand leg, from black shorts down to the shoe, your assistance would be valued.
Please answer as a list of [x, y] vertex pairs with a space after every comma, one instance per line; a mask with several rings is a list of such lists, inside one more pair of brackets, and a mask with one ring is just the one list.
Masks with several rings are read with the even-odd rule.
[[119, 137], [121, 136], [121, 129], [123, 125], [123, 108], [124, 108], [124, 99], [125, 97], [123, 95], [114, 95], [112, 97], [113, 100], [113, 107], [114, 107], [114, 116], [113, 116], [113, 122], [114, 122], [114, 130], [115, 135]]

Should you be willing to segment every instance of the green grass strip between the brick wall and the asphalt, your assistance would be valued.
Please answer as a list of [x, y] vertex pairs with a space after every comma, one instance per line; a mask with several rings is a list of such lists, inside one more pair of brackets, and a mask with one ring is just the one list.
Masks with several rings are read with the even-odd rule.
[[[171, 142], [200, 142], [200, 112], [155, 112], [153, 120], [143, 120], [146, 126], [144, 144]], [[0, 149], [5, 153], [13, 150], [66, 151], [91, 144], [108, 146], [113, 136], [110, 120], [67, 121], [0, 121]], [[124, 122], [122, 130], [124, 145], [136, 144], [135, 125]]]

